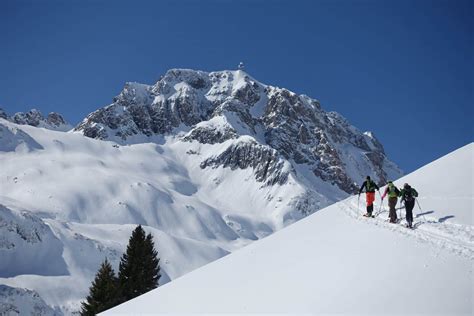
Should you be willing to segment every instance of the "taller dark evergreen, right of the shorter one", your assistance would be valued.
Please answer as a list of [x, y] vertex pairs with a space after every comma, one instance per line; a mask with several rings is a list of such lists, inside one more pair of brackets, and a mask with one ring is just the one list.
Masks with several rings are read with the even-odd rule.
[[120, 300], [128, 301], [158, 286], [160, 278], [159, 259], [157, 258], [153, 237], [145, 235], [139, 225], [128, 242], [119, 266]]

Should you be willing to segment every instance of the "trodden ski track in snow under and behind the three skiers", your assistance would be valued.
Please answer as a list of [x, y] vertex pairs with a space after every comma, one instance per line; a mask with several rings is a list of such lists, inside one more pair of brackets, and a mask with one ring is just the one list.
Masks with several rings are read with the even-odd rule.
[[[437, 221], [427, 215], [415, 205], [413, 209], [413, 226], [415, 229], [405, 227], [406, 221], [402, 211], [402, 220], [398, 224], [388, 222], [388, 207], [383, 206], [379, 211], [380, 204], [374, 204], [375, 218], [362, 216], [365, 213], [365, 200], [362, 198], [357, 203], [357, 198], [349, 199], [341, 203], [341, 210], [355, 220], [365, 222], [369, 225], [377, 225], [384, 229], [416, 238], [418, 241], [429, 243], [438, 249], [447, 249], [453, 253], [474, 260], [474, 232], [472, 226]], [[397, 216], [399, 216], [397, 207]]]

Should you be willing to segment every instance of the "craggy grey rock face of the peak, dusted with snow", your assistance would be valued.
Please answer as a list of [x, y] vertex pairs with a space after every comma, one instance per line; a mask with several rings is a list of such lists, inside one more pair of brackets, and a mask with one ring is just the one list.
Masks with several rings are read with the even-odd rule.
[[284, 161], [306, 166], [347, 193], [355, 192], [355, 182], [367, 174], [379, 182], [402, 174], [372, 133], [325, 112], [317, 100], [264, 85], [241, 70], [173, 69], [155, 85], [127, 83], [112, 104], [91, 113], [75, 131], [127, 143], [137, 136], [146, 141], [173, 135], [178, 128], [188, 131], [185, 142], [221, 144], [251, 137], [203, 160], [201, 167], [253, 168], [266, 184], [286, 181]]

